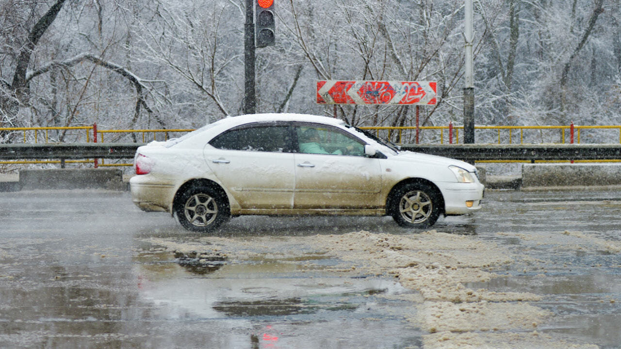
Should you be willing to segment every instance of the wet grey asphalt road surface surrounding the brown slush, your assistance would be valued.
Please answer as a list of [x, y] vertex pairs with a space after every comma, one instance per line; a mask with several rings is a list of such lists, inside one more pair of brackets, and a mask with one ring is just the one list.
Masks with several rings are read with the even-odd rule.
[[[571, 231], [619, 242], [621, 191], [488, 191], [485, 204], [476, 215], [441, 219], [433, 228], [492, 240], [536, 261], [507, 266], [510, 278], [469, 286], [542, 294], [537, 306], [556, 314], [542, 332], [621, 348], [620, 254], [597, 247], [550, 253], [548, 237]], [[239, 217], [217, 233], [286, 238], [358, 230], [415, 233], [388, 217]], [[145, 243], [150, 237], [183, 242], [197, 235], [166, 214], [139, 211], [128, 193], [0, 193], [0, 348], [422, 343], [425, 332], [403, 320], [410, 304], [374, 297], [409, 292], [392, 280], [301, 274], [278, 262], [197, 270]]]

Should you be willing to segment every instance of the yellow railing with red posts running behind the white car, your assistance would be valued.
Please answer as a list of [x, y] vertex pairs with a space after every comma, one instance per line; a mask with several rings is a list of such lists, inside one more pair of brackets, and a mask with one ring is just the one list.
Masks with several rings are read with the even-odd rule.
[[[360, 127], [369, 131], [374, 131], [379, 138], [396, 141], [395, 143], [460, 143], [460, 130], [463, 126], [365, 126]], [[194, 129], [134, 129], [134, 130], [101, 130], [97, 125], [74, 126], [74, 127], [0, 127], [0, 132], [16, 132], [24, 143], [58, 143], [57, 137], [50, 136], [50, 131], [58, 134], [63, 132], [65, 139], [72, 142], [119, 142], [125, 138], [125, 142], [137, 142], [136, 134], [140, 134], [142, 143], [152, 140], [168, 140], [171, 133], [183, 134]], [[474, 127], [477, 143], [497, 143], [497, 144], [529, 144], [529, 143], [580, 143], [581, 135], [587, 130], [610, 131], [614, 130], [615, 135], [607, 136], [606, 142], [591, 143], [617, 143], [621, 144], [621, 125], [558, 125], [558, 126], [493, 126], [480, 125]], [[77, 131], [77, 132], [75, 132]], [[538, 134], [537, 134], [538, 132]], [[548, 132], [548, 134], [543, 134]], [[431, 135], [430, 135], [431, 134]], [[493, 134], [493, 137], [492, 137]], [[556, 134], [556, 135], [555, 135]], [[23, 136], [22, 136], [23, 135]], [[118, 137], [112, 137], [117, 135]], [[425, 137], [423, 137], [425, 136]], [[518, 137], [519, 136], [519, 137]], [[127, 138], [127, 137], [130, 137]], [[601, 135], [599, 136], [601, 137]], [[493, 138], [493, 142], [491, 141]], [[533, 140], [540, 140], [534, 142]], [[517, 140], [519, 139], [519, 142]], [[601, 139], [601, 138], [599, 138]], [[550, 142], [551, 140], [551, 142]], [[448, 141], [448, 142], [447, 142]], [[27, 163], [94, 163], [95, 166], [132, 166], [131, 163], [109, 163], [103, 161], [98, 163], [94, 160], [29, 160], [29, 161], [0, 161], [2, 164], [27, 164]], [[487, 161], [486, 161], [487, 162]], [[507, 161], [498, 161], [507, 162]], [[519, 162], [519, 161], [511, 161]]]

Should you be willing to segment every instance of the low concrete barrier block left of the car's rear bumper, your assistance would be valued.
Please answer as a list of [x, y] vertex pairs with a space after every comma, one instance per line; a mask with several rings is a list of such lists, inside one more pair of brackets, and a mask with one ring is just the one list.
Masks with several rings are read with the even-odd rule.
[[20, 170], [19, 186], [34, 189], [109, 189], [125, 190], [123, 171], [119, 169], [79, 168]]

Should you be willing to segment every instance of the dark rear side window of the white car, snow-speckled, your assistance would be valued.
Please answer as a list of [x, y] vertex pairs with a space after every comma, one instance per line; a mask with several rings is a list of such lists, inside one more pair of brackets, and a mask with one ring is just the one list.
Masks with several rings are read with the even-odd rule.
[[263, 125], [226, 131], [211, 140], [209, 144], [225, 150], [286, 152], [289, 140], [288, 127]]

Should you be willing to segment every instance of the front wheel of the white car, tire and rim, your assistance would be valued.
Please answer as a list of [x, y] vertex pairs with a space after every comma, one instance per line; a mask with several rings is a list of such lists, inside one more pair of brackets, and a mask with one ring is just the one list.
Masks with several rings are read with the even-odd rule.
[[441, 194], [425, 183], [407, 183], [396, 189], [389, 200], [392, 219], [402, 227], [426, 228], [440, 217]]

